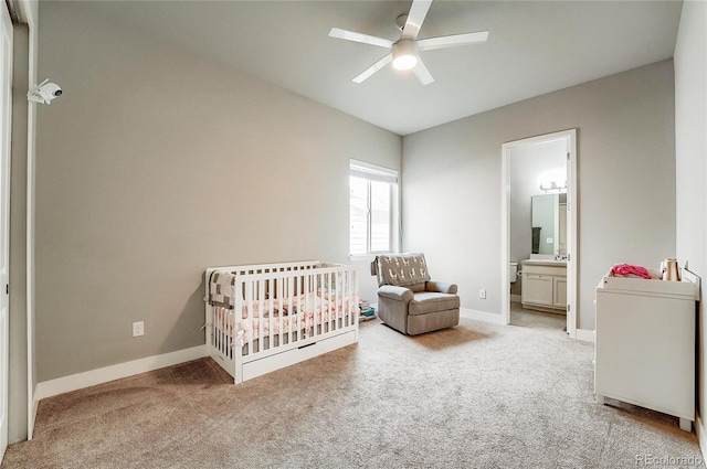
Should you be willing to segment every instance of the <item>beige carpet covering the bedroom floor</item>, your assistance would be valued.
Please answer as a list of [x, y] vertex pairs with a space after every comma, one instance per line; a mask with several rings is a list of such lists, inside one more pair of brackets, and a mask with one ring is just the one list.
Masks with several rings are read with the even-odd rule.
[[592, 344], [557, 330], [462, 318], [454, 329], [409, 338], [372, 320], [361, 324], [357, 345], [238, 386], [204, 359], [44, 399], [34, 440], [8, 448], [2, 468], [633, 468], [636, 458], [701, 460], [695, 435], [679, 430], [677, 418], [597, 405], [592, 355]]

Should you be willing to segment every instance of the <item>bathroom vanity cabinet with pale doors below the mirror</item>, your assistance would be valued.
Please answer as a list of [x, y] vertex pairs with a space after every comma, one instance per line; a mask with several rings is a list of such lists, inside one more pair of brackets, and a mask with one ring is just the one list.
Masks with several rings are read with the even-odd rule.
[[567, 263], [528, 259], [521, 263], [520, 301], [526, 309], [567, 311]]

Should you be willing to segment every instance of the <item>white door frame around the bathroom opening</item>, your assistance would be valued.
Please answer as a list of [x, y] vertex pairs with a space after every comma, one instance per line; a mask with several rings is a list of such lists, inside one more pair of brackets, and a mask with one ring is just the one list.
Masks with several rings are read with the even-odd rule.
[[541, 143], [550, 140], [566, 139], [567, 141], [567, 332], [572, 339], [577, 339], [577, 288], [579, 245], [578, 237], [578, 191], [577, 191], [577, 129], [561, 130], [536, 137], [514, 140], [502, 145], [502, 193], [500, 193], [500, 318], [503, 324], [510, 323], [510, 294], [508, 291], [510, 279], [508, 278], [508, 265], [510, 263], [510, 152], [514, 148], [527, 145]]

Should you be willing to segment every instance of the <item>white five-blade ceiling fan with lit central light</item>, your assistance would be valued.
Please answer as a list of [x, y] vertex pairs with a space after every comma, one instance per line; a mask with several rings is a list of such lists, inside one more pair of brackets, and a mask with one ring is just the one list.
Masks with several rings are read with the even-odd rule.
[[402, 30], [398, 41], [390, 41], [374, 35], [346, 31], [339, 28], [331, 28], [329, 36], [346, 41], [361, 42], [363, 44], [377, 45], [388, 49], [390, 52], [380, 61], [366, 68], [357, 75], [352, 82], [361, 83], [389, 63], [393, 63], [393, 68], [400, 71], [411, 70], [423, 85], [434, 82], [432, 74], [418, 55], [418, 52], [431, 51], [434, 49], [456, 47], [460, 45], [477, 44], [488, 39], [488, 31], [477, 31], [464, 34], [443, 35], [439, 38], [418, 39], [422, 22], [428, 15], [432, 0], [413, 0], [408, 14], [401, 14], [395, 19], [395, 23]]

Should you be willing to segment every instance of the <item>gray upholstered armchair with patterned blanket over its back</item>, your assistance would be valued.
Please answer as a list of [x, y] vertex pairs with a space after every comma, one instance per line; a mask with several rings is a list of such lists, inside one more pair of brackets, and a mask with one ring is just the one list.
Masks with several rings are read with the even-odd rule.
[[378, 317], [391, 328], [416, 335], [458, 324], [456, 285], [431, 280], [424, 254], [379, 255], [371, 274], [378, 276]]

